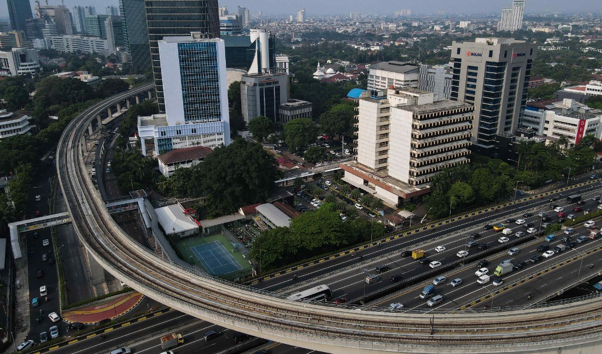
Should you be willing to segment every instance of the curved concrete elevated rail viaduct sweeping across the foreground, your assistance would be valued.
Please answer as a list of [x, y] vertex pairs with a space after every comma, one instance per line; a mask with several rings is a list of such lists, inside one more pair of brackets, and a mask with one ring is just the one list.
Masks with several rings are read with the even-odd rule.
[[58, 144], [57, 170], [81, 242], [135, 290], [198, 318], [270, 340], [332, 353], [597, 353], [598, 299], [515, 312], [404, 313], [290, 302], [159, 258], [111, 219], [82, 161], [99, 111], [149, 90], [134, 88], [85, 110]]

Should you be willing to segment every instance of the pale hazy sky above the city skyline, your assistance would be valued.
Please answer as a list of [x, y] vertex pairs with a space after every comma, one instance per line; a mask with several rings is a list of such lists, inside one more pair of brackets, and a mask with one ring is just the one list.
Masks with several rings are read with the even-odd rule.
[[[26, 1], [26, 0], [17, 0]], [[118, 5], [118, 0], [64, 0], [67, 7], [73, 5], [94, 5], [96, 12], [104, 14], [107, 5]], [[602, 11], [601, 0], [526, 0], [526, 13], [541, 12], [599, 12]], [[43, 4], [42, 0], [42, 4]], [[237, 5], [248, 7], [251, 13], [261, 10], [264, 14], [294, 14], [305, 7], [307, 16], [325, 14], [346, 14], [351, 11], [361, 13], [392, 14], [401, 8], [411, 8], [414, 13], [499, 13], [501, 8], [509, 6], [511, 0], [222, 0], [220, 5], [228, 6], [236, 11]], [[60, 0], [49, 0], [49, 4], [60, 4]], [[34, 9], [35, 2], [31, 1]], [[0, 17], [7, 16], [7, 2], [0, 0]]]

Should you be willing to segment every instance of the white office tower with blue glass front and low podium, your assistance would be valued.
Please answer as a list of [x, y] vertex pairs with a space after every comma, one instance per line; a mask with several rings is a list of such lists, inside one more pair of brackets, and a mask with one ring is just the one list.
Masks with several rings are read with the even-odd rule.
[[151, 155], [150, 141], [155, 157], [184, 147], [213, 149], [230, 143], [224, 42], [191, 34], [158, 41], [165, 114], [138, 117], [143, 155]]

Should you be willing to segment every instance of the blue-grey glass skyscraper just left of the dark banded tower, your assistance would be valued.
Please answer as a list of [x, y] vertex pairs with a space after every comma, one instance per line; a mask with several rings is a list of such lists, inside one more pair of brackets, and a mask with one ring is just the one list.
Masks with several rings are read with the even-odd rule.
[[151, 69], [151, 49], [146, 29], [144, 0], [119, 0], [123, 20], [123, 42], [131, 58], [132, 69], [143, 73]]

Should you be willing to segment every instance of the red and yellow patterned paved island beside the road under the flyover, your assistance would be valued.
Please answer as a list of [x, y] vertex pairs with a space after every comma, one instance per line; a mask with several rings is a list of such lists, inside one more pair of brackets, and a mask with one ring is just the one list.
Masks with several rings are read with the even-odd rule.
[[143, 299], [143, 294], [132, 292], [82, 305], [79, 308], [63, 312], [63, 320], [67, 322], [96, 323], [126, 314]]

